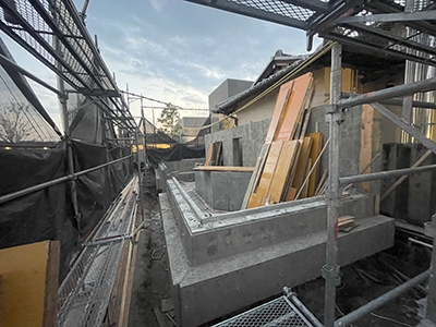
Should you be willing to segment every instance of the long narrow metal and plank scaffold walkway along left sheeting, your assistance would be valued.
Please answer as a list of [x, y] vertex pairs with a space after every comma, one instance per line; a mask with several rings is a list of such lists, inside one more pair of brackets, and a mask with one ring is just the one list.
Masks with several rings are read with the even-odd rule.
[[84, 243], [70, 274], [59, 288], [58, 326], [100, 326], [130, 239], [138, 195], [134, 177], [109, 208], [94, 238]]

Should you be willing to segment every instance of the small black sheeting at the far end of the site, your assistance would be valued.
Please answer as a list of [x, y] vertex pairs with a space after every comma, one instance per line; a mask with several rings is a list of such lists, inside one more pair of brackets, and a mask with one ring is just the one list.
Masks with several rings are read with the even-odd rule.
[[162, 161], [178, 161], [182, 159], [191, 159], [191, 158], [204, 158], [205, 157], [205, 147], [189, 147], [181, 143], [171, 145], [170, 148], [166, 149], [147, 149], [147, 159], [148, 162], [157, 169], [159, 162]]

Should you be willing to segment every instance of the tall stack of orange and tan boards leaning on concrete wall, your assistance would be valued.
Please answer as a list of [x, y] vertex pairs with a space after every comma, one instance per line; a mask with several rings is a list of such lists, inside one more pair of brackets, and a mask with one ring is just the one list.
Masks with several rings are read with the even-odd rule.
[[280, 87], [241, 209], [315, 195], [323, 134], [306, 135], [313, 90], [312, 73]]

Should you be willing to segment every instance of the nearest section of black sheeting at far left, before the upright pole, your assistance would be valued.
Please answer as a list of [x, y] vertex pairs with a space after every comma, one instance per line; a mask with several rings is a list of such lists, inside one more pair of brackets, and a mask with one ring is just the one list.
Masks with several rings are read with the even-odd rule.
[[[9, 194], [65, 175], [65, 143], [55, 147], [5, 149], [0, 147], [0, 194]], [[75, 226], [68, 183], [22, 196], [0, 205], [0, 249], [61, 240], [60, 276], [69, 268], [70, 254], [76, 247]]]

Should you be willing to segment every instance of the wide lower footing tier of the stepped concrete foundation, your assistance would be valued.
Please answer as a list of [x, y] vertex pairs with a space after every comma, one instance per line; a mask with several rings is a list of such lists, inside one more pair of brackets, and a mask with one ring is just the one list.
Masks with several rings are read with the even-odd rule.
[[[222, 258], [194, 264], [182, 241], [187, 230], [180, 232], [180, 220], [174, 219], [169, 209], [167, 194], [160, 194], [160, 205], [166, 208], [161, 215], [172, 296], [181, 326], [198, 326], [278, 294], [283, 286], [294, 287], [320, 276], [326, 255], [325, 230], [302, 233], [251, 251], [229, 253]], [[376, 216], [361, 218], [359, 222], [358, 228], [339, 235], [340, 265], [348, 265], [393, 244], [392, 219]], [[219, 221], [216, 223], [219, 225]], [[238, 223], [234, 225], [237, 227]], [[253, 227], [246, 225], [245, 229]], [[217, 228], [219, 231], [220, 228]], [[219, 238], [215, 235], [215, 240]]]

